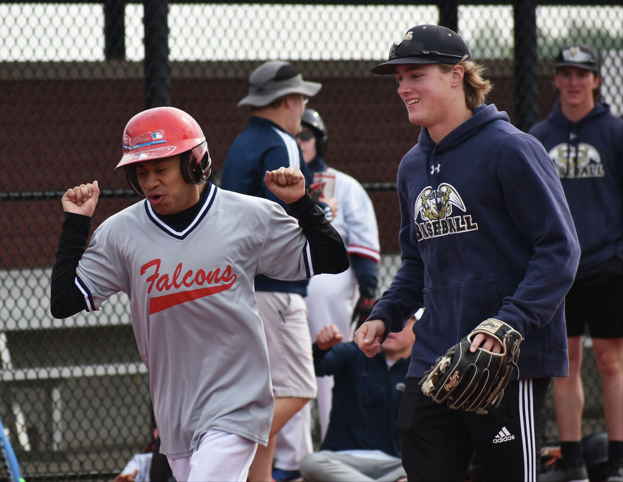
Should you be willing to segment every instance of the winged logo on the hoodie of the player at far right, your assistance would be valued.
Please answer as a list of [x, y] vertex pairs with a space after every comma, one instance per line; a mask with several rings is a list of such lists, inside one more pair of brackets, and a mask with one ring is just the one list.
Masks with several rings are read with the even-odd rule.
[[599, 151], [590, 144], [580, 142], [569, 146], [564, 142], [551, 148], [548, 154], [559, 178], [601, 178], [605, 174]]

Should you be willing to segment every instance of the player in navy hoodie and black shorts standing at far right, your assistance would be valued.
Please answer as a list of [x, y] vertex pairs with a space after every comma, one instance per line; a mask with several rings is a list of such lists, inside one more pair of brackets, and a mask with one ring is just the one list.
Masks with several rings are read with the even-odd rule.
[[530, 133], [554, 161], [582, 255], [565, 304], [569, 376], [553, 380], [563, 458], [541, 480], [588, 477], [580, 443], [582, 336], [588, 325], [602, 381], [608, 480], [623, 481], [623, 120], [595, 102], [599, 57], [591, 48], [564, 47], [554, 67], [560, 100]]

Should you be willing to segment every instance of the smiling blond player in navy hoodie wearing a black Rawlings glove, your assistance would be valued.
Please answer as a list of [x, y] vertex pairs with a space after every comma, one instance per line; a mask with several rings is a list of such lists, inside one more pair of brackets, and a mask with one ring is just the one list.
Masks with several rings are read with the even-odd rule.
[[483, 480], [535, 481], [579, 259], [558, 176], [535, 138], [483, 104], [490, 84], [455, 32], [413, 27], [373, 72], [395, 75], [422, 126], [398, 168], [402, 266], [355, 337], [372, 356], [426, 307], [396, 422], [402, 465], [410, 481], [462, 481], [477, 451]]

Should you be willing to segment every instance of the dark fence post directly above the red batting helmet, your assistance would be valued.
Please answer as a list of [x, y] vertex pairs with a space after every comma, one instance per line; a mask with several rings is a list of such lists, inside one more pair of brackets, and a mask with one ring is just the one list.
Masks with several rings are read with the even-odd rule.
[[145, 0], [145, 108], [171, 104], [167, 0]]

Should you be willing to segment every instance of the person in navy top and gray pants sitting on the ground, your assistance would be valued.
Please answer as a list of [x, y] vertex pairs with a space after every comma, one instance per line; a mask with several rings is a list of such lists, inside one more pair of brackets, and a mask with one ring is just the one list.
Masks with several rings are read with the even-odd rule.
[[394, 424], [411, 359], [415, 317], [392, 333], [368, 358], [354, 342], [326, 325], [313, 344], [316, 375], [333, 375], [333, 407], [319, 452], [306, 455], [300, 471], [313, 481], [395, 481], [406, 475]]

